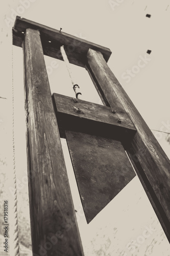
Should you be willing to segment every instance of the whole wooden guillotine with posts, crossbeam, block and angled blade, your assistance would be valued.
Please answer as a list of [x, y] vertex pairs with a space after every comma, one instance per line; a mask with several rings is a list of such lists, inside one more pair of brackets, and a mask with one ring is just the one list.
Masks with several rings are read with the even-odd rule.
[[[170, 164], [111, 72], [108, 48], [16, 17], [22, 47], [33, 255], [83, 255], [60, 137], [66, 138], [87, 223], [135, 176], [170, 241]], [[44, 54], [86, 68], [104, 105], [54, 93]], [[44, 255], [44, 254], [43, 254]]]

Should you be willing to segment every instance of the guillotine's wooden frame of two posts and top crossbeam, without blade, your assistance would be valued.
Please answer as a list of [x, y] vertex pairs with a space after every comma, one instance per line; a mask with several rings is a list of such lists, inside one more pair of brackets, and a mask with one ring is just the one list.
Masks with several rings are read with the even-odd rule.
[[[49, 225], [59, 225], [58, 220], [63, 218], [63, 220], [68, 221], [68, 223], [64, 222], [65, 226], [63, 227], [67, 244], [69, 245], [69, 241], [72, 239], [71, 237], [75, 236], [72, 241], [74, 248], [78, 250], [77, 255], [83, 255], [69, 186], [67, 190], [65, 190], [65, 186], [62, 187], [62, 184], [65, 182], [68, 185], [68, 179], [65, 165], [63, 165], [64, 160], [59, 132], [43, 60], [43, 54], [62, 59], [59, 51], [61, 45], [65, 46], [68, 59], [71, 63], [87, 68], [103, 102], [117, 111], [126, 111], [134, 123], [137, 132], [131, 139], [127, 152], [164, 229], [167, 239], [170, 241], [170, 161], [134, 104], [109, 69], [107, 61], [111, 51], [108, 48], [92, 44], [86, 40], [18, 16], [16, 17], [13, 28], [13, 45], [23, 47], [25, 56], [28, 165], [30, 172], [31, 170], [37, 170], [36, 177], [43, 188], [36, 185], [37, 182], [35, 179], [29, 184], [30, 191], [32, 190], [30, 192], [31, 204], [33, 204], [31, 215], [33, 251], [37, 253], [39, 249], [37, 245], [44, 246], [47, 242], [45, 236], [46, 232], [49, 231]], [[51, 125], [48, 125], [48, 123]], [[44, 162], [46, 154], [47, 163]], [[47, 165], [51, 167], [50, 169], [47, 168], [46, 171], [45, 166]], [[55, 190], [54, 195], [47, 189], [46, 184], [49, 183], [52, 185], [52, 190]], [[37, 193], [37, 191], [39, 195], [38, 202], [34, 198], [34, 192]], [[45, 202], [40, 200], [41, 196], [46, 198]], [[58, 201], [56, 201], [56, 198]], [[61, 198], [65, 198], [67, 203], [63, 203]], [[47, 202], [47, 199], [49, 202]], [[40, 211], [40, 207], [44, 207], [43, 212]], [[52, 220], [51, 215], [49, 218], [47, 214], [49, 207], [50, 209], [53, 208], [52, 216], [53, 213], [55, 216]], [[68, 210], [65, 209], [70, 210], [69, 214]], [[56, 215], [56, 211], [58, 212], [58, 210], [59, 216]], [[39, 219], [39, 223], [35, 222], [35, 216]], [[69, 224], [72, 218], [74, 225]], [[43, 228], [40, 226], [40, 223], [44, 225]], [[68, 228], [68, 232], [66, 226], [70, 227]], [[59, 244], [57, 243], [57, 246]], [[56, 251], [62, 250], [62, 255], [65, 255], [62, 243], [57, 246], [54, 249]], [[68, 255], [76, 255], [69, 246], [66, 248]], [[50, 255], [50, 253], [49, 250], [49, 254], [47, 255]]]

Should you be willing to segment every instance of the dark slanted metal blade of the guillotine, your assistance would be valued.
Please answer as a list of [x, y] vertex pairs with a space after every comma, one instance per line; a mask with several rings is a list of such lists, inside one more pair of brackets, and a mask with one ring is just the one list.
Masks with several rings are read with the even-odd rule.
[[134, 177], [121, 142], [65, 131], [79, 193], [89, 223]]

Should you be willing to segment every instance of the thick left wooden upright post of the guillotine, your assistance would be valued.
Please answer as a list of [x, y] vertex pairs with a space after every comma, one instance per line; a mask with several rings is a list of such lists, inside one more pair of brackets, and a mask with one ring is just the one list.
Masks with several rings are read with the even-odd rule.
[[83, 255], [39, 31], [22, 47], [33, 255]]

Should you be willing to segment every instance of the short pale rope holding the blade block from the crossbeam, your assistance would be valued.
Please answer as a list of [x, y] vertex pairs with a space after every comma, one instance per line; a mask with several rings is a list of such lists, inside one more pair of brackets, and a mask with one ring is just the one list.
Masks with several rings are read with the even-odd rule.
[[61, 46], [60, 47], [60, 51], [61, 51], [61, 54], [62, 54], [62, 57], [63, 57], [63, 60], [65, 62], [65, 65], [67, 67], [67, 71], [68, 71], [68, 74], [70, 76], [70, 79], [71, 79], [71, 83], [73, 85], [73, 89], [75, 91], [75, 94], [76, 94], [76, 98], [80, 99], [80, 95], [81, 95], [81, 92], [80, 92], [80, 87], [78, 86], [77, 82], [76, 82], [76, 79], [74, 77], [74, 75], [72, 74], [72, 70], [71, 70], [71, 67], [70, 67], [70, 63], [68, 61], [68, 58], [67, 58], [67, 55], [65, 53], [65, 50], [64, 50], [64, 46]]

